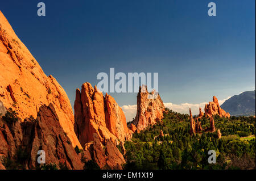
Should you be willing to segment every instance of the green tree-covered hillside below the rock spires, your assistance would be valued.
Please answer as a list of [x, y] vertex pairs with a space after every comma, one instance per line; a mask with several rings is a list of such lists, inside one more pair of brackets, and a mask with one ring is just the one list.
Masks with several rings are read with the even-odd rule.
[[[201, 123], [209, 126], [206, 117]], [[162, 124], [125, 142], [125, 169], [255, 169], [255, 118], [215, 116], [214, 123], [221, 139], [216, 132], [191, 136], [189, 116], [168, 110]], [[216, 164], [208, 163], [209, 150], [216, 150]]]

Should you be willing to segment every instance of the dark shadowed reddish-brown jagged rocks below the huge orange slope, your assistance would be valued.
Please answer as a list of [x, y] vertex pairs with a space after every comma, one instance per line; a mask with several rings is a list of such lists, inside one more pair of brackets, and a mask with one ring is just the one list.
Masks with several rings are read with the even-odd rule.
[[[15, 123], [0, 120], [0, 157], [17, 159], [17, 162], [22, 161], [23, 168], [35, 169], [39, 167], [39, 150], [45, 151], [46, 164], [82, 169], [79, 155], [61, 127], [53, 104], [41, 106], [36, 120], [30, 118]], [[18, 151], [22, 151], [26, 158], [17, 158]]]

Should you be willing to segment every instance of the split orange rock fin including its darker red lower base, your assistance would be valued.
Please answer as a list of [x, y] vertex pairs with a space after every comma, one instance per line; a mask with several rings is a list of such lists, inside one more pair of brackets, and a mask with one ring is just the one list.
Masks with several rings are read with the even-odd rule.
[[[76, 90], [75, 132], [84, 150], [90, 152], [101, 169], [122, 169], [125, 163], [117, 145], [130, 140], [133, 132], [127, 128], [126, 118], [112, 96], [102, 94], [86, 82]], [[87, 160], [90, 159], [85, 157]]]

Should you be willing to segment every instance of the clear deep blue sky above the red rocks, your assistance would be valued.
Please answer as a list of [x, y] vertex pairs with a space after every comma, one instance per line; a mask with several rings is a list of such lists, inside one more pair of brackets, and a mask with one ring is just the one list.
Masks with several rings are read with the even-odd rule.
[[[71, 103], [109, 68], [158, 72], [165, 103], [202, 103], [255, 90], [254, 0], [3, 1], [0, 10]], [[215, 2], [217, 16], [208, 16]], [[120, 106], [136, 94], [111, 94]]]

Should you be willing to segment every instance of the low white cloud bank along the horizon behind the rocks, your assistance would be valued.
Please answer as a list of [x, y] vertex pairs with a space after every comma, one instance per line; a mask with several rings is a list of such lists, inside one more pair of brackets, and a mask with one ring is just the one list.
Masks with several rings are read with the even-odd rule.
[[[218, 103], [223, 104], [225, 100], [229, 99], [231, 96], [229, 96], [226, 99], [218, 100]], [[164, 106], [169, 108], [170, 110], [179, 112], [179, 113], [189, 113], [189, 108], [191, 108], [193, 115], [199, 114], [199, 107], [202, 108], [202, 111], [204, 112], [204, 106], [205, 104], [208, 104], [208, 102], [203, 102], [199, 104], [192, 104], [192, 103], [181, 103], [181, 104], [173, 104], [173, 103], [164, 103]], [[125, 113], [126, 121], [131, 121], [136, 116], [137, 113], [137, 105], [125, 105], [121, 107], [123, 112]]]

